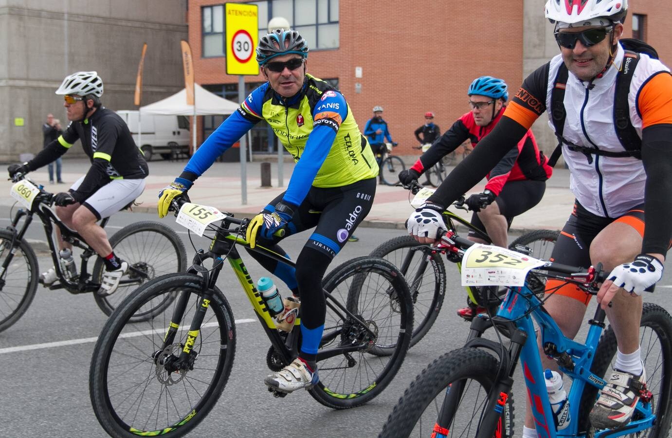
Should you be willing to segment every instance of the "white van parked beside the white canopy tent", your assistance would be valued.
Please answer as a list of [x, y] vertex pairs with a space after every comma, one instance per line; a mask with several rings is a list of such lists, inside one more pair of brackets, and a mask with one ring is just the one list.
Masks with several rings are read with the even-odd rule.
[[144, 159], [152, 159], [159, 154], [163, 159], [189, 155], [189, 142], [192, 138], [189, 132], [189, 119], [185, 116], [154, 116], [142, 114], [140, 120], [142, 136], [138, 142], [138, 111], [119, 110], [117, 112], [133, 136], [135, 143], [142, 149]]

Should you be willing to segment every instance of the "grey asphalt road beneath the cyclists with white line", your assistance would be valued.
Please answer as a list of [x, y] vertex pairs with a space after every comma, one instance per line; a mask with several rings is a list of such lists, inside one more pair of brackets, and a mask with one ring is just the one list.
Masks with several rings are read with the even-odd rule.
[[[0, 226], [5, 226], [9, 214], [0, 208]], [[120, 213], [110, 222], [116, 230], [138, 220], [155, 220], [153, 214]], [[171, 218], [163, 220], [173, 223]], [[187, 258], [193, 250], [184, 228], [174, 224], [185, 240]], [[365, 255], [388, 238], [399, 236], [402, 230], [362, 228], [356, 233], [358, 243], [349, 243], [333, 262]], [[31, 226], [29, 237], [44, 240], [40, 224]], [[306, 236], [292, 236], [284, 248], [298, 254]], [[50, 267], [48, 253], [38, 254], [40, 271]], [[251, 257], [243, 259], [253, 278], [264, 275], [263, 269]], [[669, 265], [669, 263], [668, 263]], [[427, 337], [416, 345], [392, 384], [369, 404], [351, 410], [331, 410], [313, 400], [305, 391], [286, 398], [274, 398], [267, 392], [263, 378], [268, 374], [265, 355], [269, 342], [256, 322], [237, 324], [237, 351], [233, 371], [218, 404], [190, 436], [193, 437], [375, 437], [392, 407], [411, 380], [433, 359], [446, 351], [460, 347], [468, 324], [455, 311], [462, 307], [466, 296], [459, 286], [457, 270], [448, 267], [448, 296], [444, 308]], [[218, 286], [226, 294], [237, 320], [255, 319], [244, 294], [237, 288], [233, 273], [222, 271]], [[659, 284], [657, 293], [646, 300], [657, 302], [672, 311], [667, 296], [672, 293], [669, 269]], [[286, 293], [286, 291], [281, 292]], [[592, 314], [594, 303], [588, 314]], [[0, 333], [0, 436], [2, 437], [105, 437], [89, 402], [89, 363], [95, 337], [106, 316], [89, 295], [71, 295], [64, 291], [49, 291], [42, 287], [32, 306], [7, 331]], [[44, 343], [58, 342], [58, 346]], [[22, 347], [8, 352], [9, 347]], [[516, 430], [522, 427], [524, 389], [514, 388]]]

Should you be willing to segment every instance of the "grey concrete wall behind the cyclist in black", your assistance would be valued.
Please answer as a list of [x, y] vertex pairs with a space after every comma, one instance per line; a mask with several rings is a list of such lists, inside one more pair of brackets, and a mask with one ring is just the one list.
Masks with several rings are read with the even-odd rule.
[[[143, 42], [142, 104], [183, 88], [186, 7], [186, 0], [0, 0], [0, 161], [42, 149], [46, 114], [67, 125], [54, 91], [75, 71], [98, 72], [106, 107], [134, 109]], [[15, 118], [25, 126], [15, 126]], [[75, 146], [65, 158], [82, 154]]]

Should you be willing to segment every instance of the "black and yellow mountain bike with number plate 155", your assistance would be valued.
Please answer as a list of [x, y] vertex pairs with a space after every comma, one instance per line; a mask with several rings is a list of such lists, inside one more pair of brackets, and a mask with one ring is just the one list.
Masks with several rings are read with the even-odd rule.
[[[179, 210], [175, 202], [173, 210]], [[177, 221], [201, 221], [202, 227], [210, 222], [210, 250], [197, 251], [186, 273], [153, 279], [126, 298], [103, 327], [93, 351], [91, 403], [113, 437], [179, 437], [216, 404], [236, 348], [235, 319], [225, 296], [233, 291], [216, 286], [224, 261], [271, 343], [269, 369], [278, 371], [298, 355], [300, 329], [295, 325], [289, 334], [276, 329], [238, 251], [249, 248], [243, 238], [248, 220], [183, 204]], [[251, 251], [293, 265], [259, 245]], [[206, 267], [206, 261], [212, 265]], [[413, 331], [411, 295], [396, 267], [368, 256], [339, 265], [323, 285], [327, 316], [317, 353], [320, 382], [308, 391], [331, 408], [360, 406], [378, 396], [401, 367]], [[133, 324], [134, 316], [146, 309], [152, 309], [152, 317]]]

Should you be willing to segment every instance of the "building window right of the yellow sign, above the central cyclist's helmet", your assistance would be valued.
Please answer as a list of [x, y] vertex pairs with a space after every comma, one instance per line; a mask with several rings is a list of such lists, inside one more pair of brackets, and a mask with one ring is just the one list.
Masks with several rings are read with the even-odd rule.
[[306, 38], [310, 50], [339, 46], [339, 0], [264, 0], [259, 6], [259, 38], [272, 17], [285, 17]]

